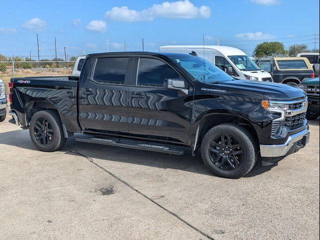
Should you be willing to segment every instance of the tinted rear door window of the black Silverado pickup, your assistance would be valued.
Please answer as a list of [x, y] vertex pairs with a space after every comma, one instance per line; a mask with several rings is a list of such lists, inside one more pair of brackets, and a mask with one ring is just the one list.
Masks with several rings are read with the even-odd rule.
[[93, 79], [101, 82], [124, 83], [128, 57], [97, 58]]

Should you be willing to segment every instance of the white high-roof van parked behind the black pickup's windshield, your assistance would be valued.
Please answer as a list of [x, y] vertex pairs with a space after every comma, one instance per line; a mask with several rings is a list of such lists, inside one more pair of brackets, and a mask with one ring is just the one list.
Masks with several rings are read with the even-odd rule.
[[270, 73], [261, 70], [243, 51], [230, 46], [179, 45], [160, 46], [160, 52], [197, 54], [236, 79], [273, 81]]

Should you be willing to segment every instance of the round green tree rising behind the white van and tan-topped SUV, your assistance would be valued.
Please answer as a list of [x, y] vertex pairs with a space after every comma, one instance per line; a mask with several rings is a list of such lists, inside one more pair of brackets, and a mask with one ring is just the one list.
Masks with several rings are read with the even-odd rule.
[[257, 44], [253, 50], [255, 56], [283, 56], [287, 54], [282, 42], [264, 41]]

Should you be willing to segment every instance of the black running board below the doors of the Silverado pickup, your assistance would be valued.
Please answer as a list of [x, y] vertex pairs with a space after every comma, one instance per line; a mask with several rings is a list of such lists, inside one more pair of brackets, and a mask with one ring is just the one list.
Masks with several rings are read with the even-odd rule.
[[184, 154], [183, 150], [170, 149], [169, 147], [166, 147], [166, 146], [153, 145], [153, 144], [143, 143], [141, 141], [134, 141], [134, 140], [124, 140], [124, 139], [118, 139], [118, 138], [108, 139], [108, 138], [98, 138], [98, 137], [75, 137], [75, 140], [82, 141], [82, 142], [104, 144], [109, 146], [120, 146], [120, 147], [147, 150], [147, 151], [164, 152], [164, 153], [175, 154], [175, 155]]

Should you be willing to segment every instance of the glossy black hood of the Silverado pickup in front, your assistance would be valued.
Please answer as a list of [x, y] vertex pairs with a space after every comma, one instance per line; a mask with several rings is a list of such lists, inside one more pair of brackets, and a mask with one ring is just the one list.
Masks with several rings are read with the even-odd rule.
[[[282, 83], [261, 82], [250, 80], [233, 80], [221, 83], [227, 90], [228, 87], [238, 88], [239, 91], [261, 93], [273, 100], [293, 100], [305, 97], [305, 93], [298, 87]], [[234, 89], [235, 90], [235, 89]]]

